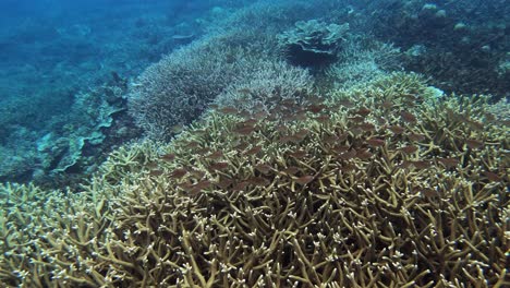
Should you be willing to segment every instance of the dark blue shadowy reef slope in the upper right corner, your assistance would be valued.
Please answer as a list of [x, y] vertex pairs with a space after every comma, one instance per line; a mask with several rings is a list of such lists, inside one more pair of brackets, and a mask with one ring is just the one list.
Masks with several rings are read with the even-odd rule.
[[510, 49], [505, 1], [380, 0], [359, 5], [363, 31], [403, 51], [426, 48], [403, 59], [408, 70], [433, 77], [448, 93], [509, 96], [510, 73], [498, 69]]

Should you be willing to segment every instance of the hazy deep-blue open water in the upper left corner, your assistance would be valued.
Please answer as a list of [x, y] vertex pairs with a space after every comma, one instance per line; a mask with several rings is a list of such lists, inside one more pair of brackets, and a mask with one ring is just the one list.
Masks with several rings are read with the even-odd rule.
[[70, 94], [98, 85], [111, 71], [136, 74], [171, 51], [175, 24], [199, 8], [169, 2], [2, 1], [0, 98], [38, 104], [33, 117], [10, 123], [40, 128], [65, 112]]

